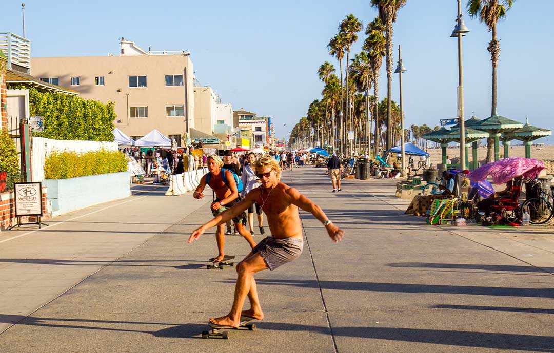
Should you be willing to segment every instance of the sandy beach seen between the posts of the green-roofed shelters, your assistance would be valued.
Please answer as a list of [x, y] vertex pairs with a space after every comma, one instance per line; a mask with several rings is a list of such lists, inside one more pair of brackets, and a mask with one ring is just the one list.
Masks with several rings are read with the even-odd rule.
[[[429, 148], [427, 152], [431, 155], [431, 163], [437, 165], [442, 163], [442, 154], [440, 148]], [[459, 147], [452, 147], [447, 149], [447, 153], [453, 163], [457, 163], [460, 149]], [[469, 149], [469, 162], [473, 160], [472, 150]], [[500, 156], [504, 155], [504, 147], [500, 145]], [[479, 147], [477, 150], [477, 157], [480, 161], [484, 162], [486, 157], [486, 146]], [[525, 157], [525, 146], [511, 146], [510, 157]], [[554, 175], [554, 145], [543, 146], [531, 146], [531, 158], [541, 160], [545, 163], [547, 174]]]

